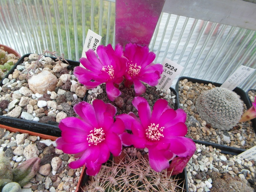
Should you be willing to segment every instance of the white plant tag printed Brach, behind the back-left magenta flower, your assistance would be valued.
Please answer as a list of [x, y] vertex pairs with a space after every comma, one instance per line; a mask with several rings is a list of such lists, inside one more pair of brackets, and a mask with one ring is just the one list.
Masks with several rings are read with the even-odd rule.
[[[84, 48], [82, 52], [82, 57], [86, 58], [85, 52], [89, 49], [92, 49], [96, 52], [97, 47], [100, 45], [101, 36], [99, 36], [97, 33], [94, 33], [92, 30], [88, 29], [88, 33], [86, 35]], [[80, 63], [80, 67], [84, 66]]]

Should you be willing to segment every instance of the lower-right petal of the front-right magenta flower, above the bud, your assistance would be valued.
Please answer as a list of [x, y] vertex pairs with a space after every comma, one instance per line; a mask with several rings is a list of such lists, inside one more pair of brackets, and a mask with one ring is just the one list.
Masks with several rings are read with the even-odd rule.
[[196, 151], [195, 142], [186, 137], [173, 137], [170, 140], [170, 150], [177, 156], [186, 157], [191, 156]]

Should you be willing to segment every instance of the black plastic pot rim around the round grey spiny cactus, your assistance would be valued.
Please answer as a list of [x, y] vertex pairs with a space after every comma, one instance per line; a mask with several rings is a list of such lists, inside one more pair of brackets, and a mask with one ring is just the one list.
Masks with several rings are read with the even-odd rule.
[[[211, 81], [204, 81], [204, 80], [200, 80], [200, 79], [195, 79], [195, 78], [190, 78], [190, 77], [180, 77], [178, 79], [178, 82], [176, 84], [176, 91], [179, 92], [179, 81], [180, 80], [184, 80], [184, 79], [188, 79], [188, 81], [191, 81], [192, 83], [203, 83], [203, 84], [212, 84], [216, 87], [220, 87], [220, 83], [214, 83], [214, 82], [211, 82]], [[250, 108], [252, 106], [250, 100], [248, 99], [248, 96], [247, 94], [244, 92], [244, 90], [242, 90], [241, 88], [239, 87], [236, 87], [234, 90], [234, 92], [236, 92], [240, 97], [241, 99], [243, 100], [244, 104], [246, 105], [247, 108]], [[254, 133], [256, 132], [256, 124], [254, 121], [252, 121], [252, 128], [254, 130]], [[219, 148], [221, 149], [223, 152], [227, 152], [228, 154], [232, 154], [232, 155], [236, 155], [236, 154], [240, 154], [242, 152], [245, 151], [245, 149], [241, 149], [241, 148], [235, 148], [235, 147], [229, 147], [229, 146], [226, 146], [226, 145], [220, 145], [220, 144], [217, 144], [217, 143], [211, 143], [211, 142], [207, 142], [207, 141], [201, 141], [201, 140], [194, 140], [196, 143], [198, 144], [202, 144], [202, 145], [214, 145], [216, 146], [216, 148]]]

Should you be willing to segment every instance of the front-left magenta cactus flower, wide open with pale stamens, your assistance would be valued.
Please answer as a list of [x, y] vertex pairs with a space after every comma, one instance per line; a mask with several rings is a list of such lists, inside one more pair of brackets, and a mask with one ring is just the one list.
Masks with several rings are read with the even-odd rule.
[[74, 106], [80, 118], [62, 119], [59, 128], [61, 137], [56, 140], [57, 148], [64, 153], [75, 154], [76, 161], [69, 163], [72, 169], [85, 164], [88, 175], [96, 175], [102, 163], [107, 162], [110, 152], [120, 155], [124, 123], [114, 122], [116, 107], [102, 100], [94, 100], [92, 105], [82, 101]]

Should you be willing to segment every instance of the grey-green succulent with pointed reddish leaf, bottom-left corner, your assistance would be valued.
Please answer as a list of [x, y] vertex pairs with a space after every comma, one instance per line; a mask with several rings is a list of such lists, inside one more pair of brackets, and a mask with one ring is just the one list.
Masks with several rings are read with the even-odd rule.
[[11, 168], [10, 160], [0, 152], [0, 190], [8, 183], [16, 182], [21, 187], [26, 185], [37, 173], [40, 166], [40, 158], [35, 157], [20, 164], [15, 169]]

